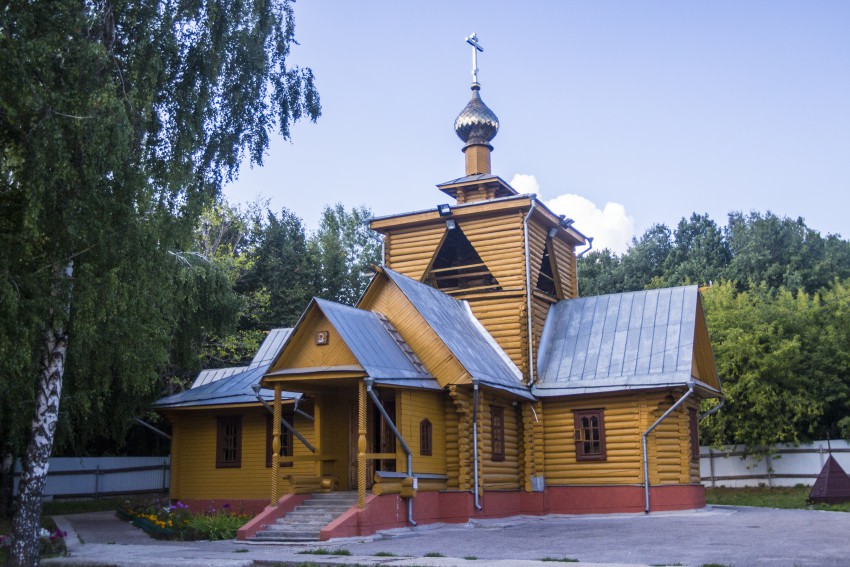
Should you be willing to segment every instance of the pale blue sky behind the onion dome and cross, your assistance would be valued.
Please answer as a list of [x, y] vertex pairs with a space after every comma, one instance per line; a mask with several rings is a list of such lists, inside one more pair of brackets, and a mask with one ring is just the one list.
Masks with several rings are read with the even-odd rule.
[[731, 211], [850, 237], [850, 2], [298, 0], [292, 65], [322, 116], [246, 163], [231, 203], [318, 225], [337, 202], [434, 208], [462, 177], [457, 114], [477, 33], [501, 124], [493, 173], [535, 192], [594, 247]]

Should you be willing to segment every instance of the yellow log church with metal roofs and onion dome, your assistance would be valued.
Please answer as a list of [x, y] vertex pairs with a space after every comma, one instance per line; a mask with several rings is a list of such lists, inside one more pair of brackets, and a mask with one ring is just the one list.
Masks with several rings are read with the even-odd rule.
[[491, 173], [498, 127], [476, 80], [466, 175], [372, 219], [383, 266], [358, 304], [314, 299], [250, 367], [155, 404], [172, 498], [261, 511], [240, 537], [268, 539], [323, 493], [351, 506], [322, 539], [704, 506], [699, 407], [722, 394], [697, 288], [579, 297], [588, 239]]

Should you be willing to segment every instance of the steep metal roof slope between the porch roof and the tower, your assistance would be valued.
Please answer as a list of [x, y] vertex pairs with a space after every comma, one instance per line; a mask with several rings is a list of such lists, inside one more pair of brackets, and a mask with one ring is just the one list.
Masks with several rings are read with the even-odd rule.
[[389, 268], [384, 271], [474, 380], [533, 399], [522, 373], [480, 323], [476, 324], [465, 302]]

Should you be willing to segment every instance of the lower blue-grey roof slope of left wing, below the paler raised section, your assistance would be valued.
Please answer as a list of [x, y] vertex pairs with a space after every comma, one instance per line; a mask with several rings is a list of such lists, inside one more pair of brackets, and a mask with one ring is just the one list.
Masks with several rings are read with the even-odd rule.
[[[153, 409], [258, 403], [252, 386], [260, 381], [266, 372], [266, 368], [262, 366], [252, 368], [216, 382], [210, 382], [179, 394], [161, 398], [154, 402]], [[274, 400], [274, 390], [260, 390], [260, 395], [266, 401]], [[283, 397], [287, 399], [295, 399], [300, 395], [293, 392], [283, 393]]]

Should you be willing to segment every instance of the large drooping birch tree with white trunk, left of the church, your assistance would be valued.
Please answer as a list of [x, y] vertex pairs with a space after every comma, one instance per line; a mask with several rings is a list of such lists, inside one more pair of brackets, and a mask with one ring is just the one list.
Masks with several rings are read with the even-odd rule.
[[17, 323], [0, 327], [0, 350], [22, 353], [0, 361], [14, 384], [0, 394], [11, 415], [34, 408], [8, 426], [30, 432], [13, 565], [39, 561], [66, 366], [79, 364], [74, 391], [148, 390], [197, 215], [243, 158], [261, 162], [272, 129], [287, 138], [319, 115], [312, 73], [286, 66], [293, 41], [286, 0], [0, 10], [0, 320]]

